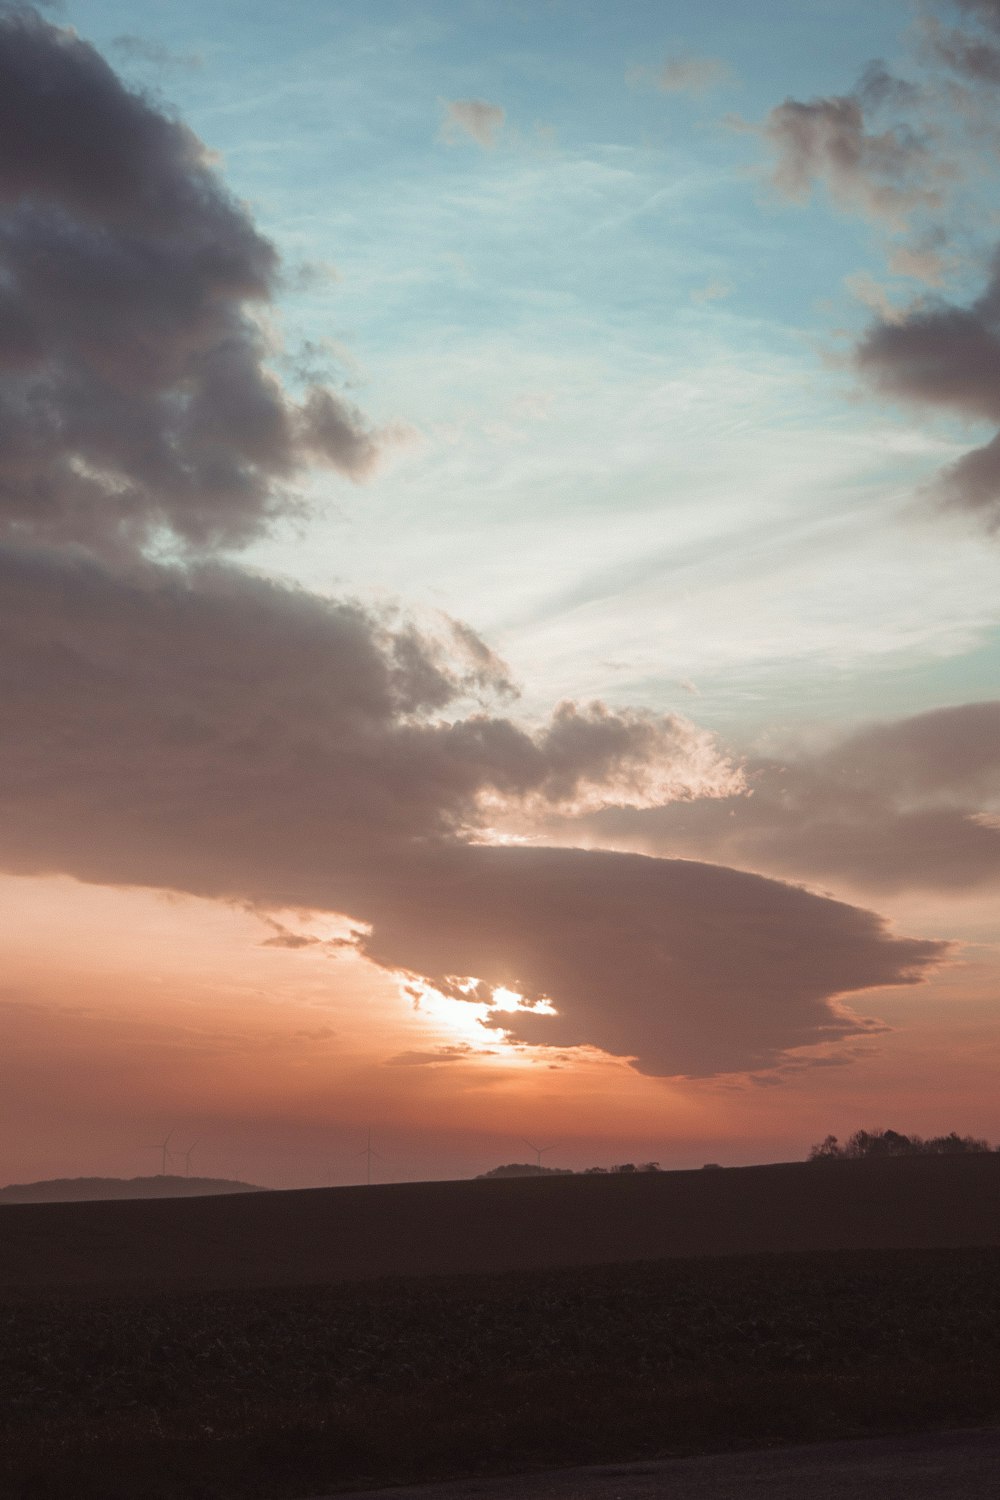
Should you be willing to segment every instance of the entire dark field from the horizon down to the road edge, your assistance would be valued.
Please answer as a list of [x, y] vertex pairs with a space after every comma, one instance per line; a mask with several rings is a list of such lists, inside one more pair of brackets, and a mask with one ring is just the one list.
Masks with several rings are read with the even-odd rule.
[[994, 1156], [9, 1206], [0, 1257], [3, 1500], [1000, 1420]]

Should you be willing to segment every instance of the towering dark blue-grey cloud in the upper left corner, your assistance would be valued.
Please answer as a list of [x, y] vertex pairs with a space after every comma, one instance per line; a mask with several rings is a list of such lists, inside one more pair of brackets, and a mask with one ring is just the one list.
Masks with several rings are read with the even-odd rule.
[[237, 546], [387, 435], [268, 366], [274, 248], [201, 141], [73, 32], [0, 12], [0, 534]]

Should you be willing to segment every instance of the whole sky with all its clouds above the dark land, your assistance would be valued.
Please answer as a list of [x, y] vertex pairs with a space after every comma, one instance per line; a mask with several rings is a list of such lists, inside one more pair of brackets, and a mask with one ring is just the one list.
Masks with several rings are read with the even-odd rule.
[[1000, 3], [751, 22], [0, 6], [3, 1180], [1000, 1140]]

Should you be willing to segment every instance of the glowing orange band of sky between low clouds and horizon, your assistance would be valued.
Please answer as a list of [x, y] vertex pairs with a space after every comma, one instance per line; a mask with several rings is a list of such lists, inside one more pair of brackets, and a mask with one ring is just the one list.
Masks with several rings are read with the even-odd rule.
[[378, 969], [348, 918], [66, 878], [0, 878], [0, 904], [6, 1180], [159, 1170], [171, 1128], [178, 1149], [202, 1137], [199, 1173], [274, 1186], [357, 1180], [369, 1124], [399, 1179], [523, 1160], [535, 1132], [582, 1167], [790, 1160], [859, 1125], [999, 1130], [985, 945], [928, 986], [855, 998], [891, 1030], [843, 1066], [664, 1080], [508, 1042], [484, 1022], [522, 1010], [516, 990], [462, 999]]

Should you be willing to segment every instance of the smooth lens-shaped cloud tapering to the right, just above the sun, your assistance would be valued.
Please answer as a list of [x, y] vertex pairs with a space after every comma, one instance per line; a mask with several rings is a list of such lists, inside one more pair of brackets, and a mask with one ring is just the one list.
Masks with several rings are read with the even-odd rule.
[[[414, 872], [417, 873], [417, 872]], [[451, 975], [547, 999], [496, 1011], [525, 1042], [594, 1046], [640, 1072], [705, 1077], [873, 1023], [835, 996], [916, 982], [946, 945], [762, 876], [580, 849], [453, 848], [372, 891], [363, 951], [447, 988]]]

